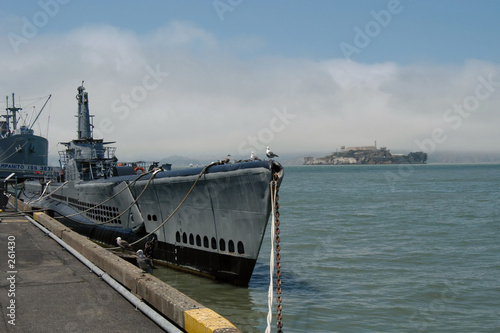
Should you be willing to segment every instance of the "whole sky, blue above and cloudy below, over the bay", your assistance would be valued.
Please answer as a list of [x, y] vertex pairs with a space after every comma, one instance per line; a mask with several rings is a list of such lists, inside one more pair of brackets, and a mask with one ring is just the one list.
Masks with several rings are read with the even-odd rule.
[[[57, 156], [500, 148], [498, 1], [0, 1], [0, 93]], [[33, 115], [35, 114], [35, 116]]]

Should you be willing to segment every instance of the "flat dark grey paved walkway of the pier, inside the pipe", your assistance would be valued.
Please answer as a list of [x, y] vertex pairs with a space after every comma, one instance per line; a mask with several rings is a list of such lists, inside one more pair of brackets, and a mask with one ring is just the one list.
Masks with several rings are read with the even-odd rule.
[[12, 213], [0, 214], [1, 332], [164, 332], [28, 219]]

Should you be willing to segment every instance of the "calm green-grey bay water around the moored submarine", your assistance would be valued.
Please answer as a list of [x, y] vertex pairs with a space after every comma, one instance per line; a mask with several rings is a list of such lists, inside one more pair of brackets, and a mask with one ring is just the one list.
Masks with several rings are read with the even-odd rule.
[[[286, 167], [280, 207], [285, 332], [500, 332], [499, 164]], [[155, 275], [264, 332], [269, 232], [249, 288]]]

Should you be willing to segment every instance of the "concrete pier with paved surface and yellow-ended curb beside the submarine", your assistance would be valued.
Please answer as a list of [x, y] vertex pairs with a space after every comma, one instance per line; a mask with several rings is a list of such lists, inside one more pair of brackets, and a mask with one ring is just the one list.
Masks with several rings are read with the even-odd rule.
[[[18, 207], [28, 209], [20, 202]], [[239, 332], [214, 311], [49, 216], [34, 216], [44, 228], [168, 318], [181, 332]], [[27, 218], [4, 212], [0, 219], [0, 253], [6, 253], [0, 258], [0, 274], [5, 276], [0, 281], [0, 331], [164, 331]], [[10, 245], [14, 245], [12, 255]], [[9, 255], [15, 262], [9, 261]], [[9, 309], [11, 304], [14, 306]]]

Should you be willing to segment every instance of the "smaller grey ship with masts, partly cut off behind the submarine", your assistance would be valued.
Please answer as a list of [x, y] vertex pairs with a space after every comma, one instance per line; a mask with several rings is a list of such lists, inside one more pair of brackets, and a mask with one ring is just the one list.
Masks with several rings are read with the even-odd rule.
[[0, 178], [15, 173], [18, 180], [22, 181], [25, 178], [41, 177], [51, 169], [47, 167], [48, 141], [35, 135], [32, 129], [50, 97], [31, 124], [20, 126], [18, 112], [22, 108], [15, 106], [14, 94], [12, 106], [9, 106], [7, 97], [6, 113], [2, 115], [5, 119], [0, 120]]

